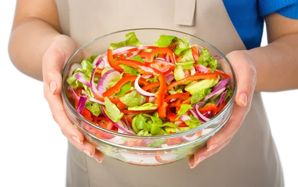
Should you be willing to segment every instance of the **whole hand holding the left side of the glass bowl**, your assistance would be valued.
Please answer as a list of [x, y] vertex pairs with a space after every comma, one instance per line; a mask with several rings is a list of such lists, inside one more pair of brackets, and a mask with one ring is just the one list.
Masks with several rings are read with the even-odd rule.
[[87, 140], [84, 140], [84, 136], [69, 121], [62, 103], [61, 73], [66, 62], [78, 47], [79, 45], [68, 36], [59, 35], [54, 38], [53, 43], [42, 59], [44, 96], [49, 103], [53, 118], [60, 126], [62, 133], [75, 147], [101, 163], [104, 154], [96, 150]]

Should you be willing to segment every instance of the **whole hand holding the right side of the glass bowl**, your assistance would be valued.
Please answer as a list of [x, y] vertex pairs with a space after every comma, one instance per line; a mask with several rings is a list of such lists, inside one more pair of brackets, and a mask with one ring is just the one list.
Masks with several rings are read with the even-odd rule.
[[249, 51], [234, 51], [226, 56], [237, 77], [238, 88], [235, 96], [235, 108], [223, 129], [208, 140], [207, 146], [189, 157], [190, 168], [196, 167], [204, 159], [223, 149], [238, 131], [248, 113], [257, 80], [256, 69], [249, 58], [249, 53]]

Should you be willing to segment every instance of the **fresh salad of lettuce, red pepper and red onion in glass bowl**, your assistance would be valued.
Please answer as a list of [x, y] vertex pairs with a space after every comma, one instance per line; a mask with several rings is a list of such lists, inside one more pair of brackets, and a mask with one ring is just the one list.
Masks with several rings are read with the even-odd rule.
[[161, 35], [143, 46], [134, 32], [104, 54], [72, 64], [68, 97], [85, 119], [141, 136], [177, 133], [217, 116], [230, 98], [219, 55]]

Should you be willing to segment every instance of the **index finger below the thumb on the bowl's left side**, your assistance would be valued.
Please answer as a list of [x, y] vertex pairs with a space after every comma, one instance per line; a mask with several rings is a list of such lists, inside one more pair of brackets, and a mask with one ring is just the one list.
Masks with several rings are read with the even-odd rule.
[[73, 138], [76, 142], [82, 144], [84, 136], [69, 121], [62, 104], [61, 95], [53, 95], [46, 84], [44, 84], [44, 94], [49, 103], [52, 116], [60, 126], [62, 133], [68, 139]]

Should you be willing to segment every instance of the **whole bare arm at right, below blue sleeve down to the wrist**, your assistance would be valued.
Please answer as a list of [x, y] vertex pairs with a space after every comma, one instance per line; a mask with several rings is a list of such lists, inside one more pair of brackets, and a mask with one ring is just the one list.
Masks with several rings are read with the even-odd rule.
[[256, 91], [298, 89], [298, 20], [266, 16], [269, 45], [248, 51], [257, 70]]

